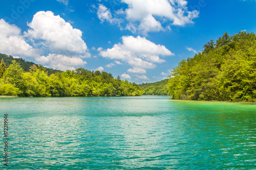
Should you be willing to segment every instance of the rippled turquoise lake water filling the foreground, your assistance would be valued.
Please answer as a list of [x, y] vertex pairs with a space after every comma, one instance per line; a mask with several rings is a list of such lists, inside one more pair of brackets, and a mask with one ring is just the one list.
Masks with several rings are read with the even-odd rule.
[[254, 103], [2, 98], [0, 111], [0, 169], [256, 169]]

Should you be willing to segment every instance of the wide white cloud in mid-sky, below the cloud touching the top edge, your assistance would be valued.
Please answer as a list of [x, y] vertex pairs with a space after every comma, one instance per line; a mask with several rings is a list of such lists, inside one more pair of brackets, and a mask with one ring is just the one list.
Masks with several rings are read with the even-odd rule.
[[107, 50], [99, 49], [100, 55], [105, 58], [122, 60], [133, 67], [155, 68], [155, 63], [165, 60], [161, 56], [174, 55], [164, 45], [155, 44], [144, 37], [123, 36], [122, 43], [114, 44]]

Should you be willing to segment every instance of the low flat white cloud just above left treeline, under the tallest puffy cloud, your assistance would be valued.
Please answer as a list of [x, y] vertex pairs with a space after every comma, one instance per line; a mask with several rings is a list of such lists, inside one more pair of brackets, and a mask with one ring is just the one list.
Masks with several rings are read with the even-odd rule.
[[49, 54], [48, 56], [40, 56], [35, 58], [39, 63], [47, 64], [53, 69], [67, 70], [75, 69], [75, 67], [83, 66], [87, 64], [86, 61], [83, 61], [79, 57], [69, 57], [60, 54]]

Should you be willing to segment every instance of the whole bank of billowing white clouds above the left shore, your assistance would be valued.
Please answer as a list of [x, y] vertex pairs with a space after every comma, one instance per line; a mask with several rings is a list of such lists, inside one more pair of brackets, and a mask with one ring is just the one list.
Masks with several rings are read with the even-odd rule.
[[[30, 29], [21, 34], [18, 27], [0, 19], [1, 53], [22, 58], [33, 57], [39, 63], [60, 70], [87, 64], [81, 59], [90, 57], [87, 45], [81, 38], [82, 32], [59, 15], [55, 16], [51, 11], [39, 11], [28, 26]], [[48, 55], [43, 56], [43, 51]]]

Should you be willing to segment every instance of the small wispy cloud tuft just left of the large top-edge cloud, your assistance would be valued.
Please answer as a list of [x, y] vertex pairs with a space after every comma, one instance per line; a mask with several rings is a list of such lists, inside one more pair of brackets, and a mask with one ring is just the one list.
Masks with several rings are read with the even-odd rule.
[[119, 24], [121, 22], [120, 19], [112, 17], [111, 11], [102, 4], [99, 4], [97, 15], [101, 22], [108, 21], [110, 23], [119, 23]]

